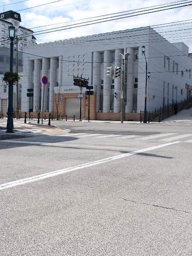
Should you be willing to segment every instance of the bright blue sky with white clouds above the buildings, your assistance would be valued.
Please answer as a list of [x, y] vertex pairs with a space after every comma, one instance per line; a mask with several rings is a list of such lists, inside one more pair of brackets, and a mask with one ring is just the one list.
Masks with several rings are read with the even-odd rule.
[[[192, 6], [116, 19], [89, 26], [76, 25], [76, 28], [69, 26], [72, 23], [87, 22], [92, 17], [106, 14], [117, 12], [128, 14], [126, 11], [132, 13], [137, 12], [136, 9], [140, 8], [151, 9], [158, 8], [163, 4], [174, 5], [186, 2], [192, 4], [192, 1], [172, 2], [172, 0], [124, 0], [121, 2], [117, 0], [1, 0], [0, 12], [8, 10], [19, 12], [22, 20], [20, 26], [32, 29], [37, 43], [152, 26], [170, 42], [184, 42], [189, 47], [189, 51], [192, 52], [192, 38], [190, 37]], [[92, 18], [92, 23], [99, 18], [104, 17]], [[159, 24], [165, 25], [156, 26]], [[48, 28], [52, 32], [44, 33], [42, 31]]]

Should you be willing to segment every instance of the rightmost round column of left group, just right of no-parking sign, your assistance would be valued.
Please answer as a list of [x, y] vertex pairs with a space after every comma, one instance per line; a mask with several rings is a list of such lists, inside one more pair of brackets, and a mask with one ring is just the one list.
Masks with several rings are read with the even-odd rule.
[[54, 112], [54, 87], [56, 83], [57, 58], [51, 58], [50, 66], [50, 92], [49, 92], [49, 111]]

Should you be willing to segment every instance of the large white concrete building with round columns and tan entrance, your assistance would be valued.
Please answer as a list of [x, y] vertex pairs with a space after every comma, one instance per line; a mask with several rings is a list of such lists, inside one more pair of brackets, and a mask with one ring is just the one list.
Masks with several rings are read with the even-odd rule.
[[[77, 94], [80, 90], [73, 86], [73, 76], [82, 74], [83, 78], [89, 78], [89, 85], [94, 85], [94, 96], [90, 96], [91, 119], [120, 119], [121, 75], [110, 78], [106, 74], [110, 66], [121, 67], [121, 54], [126, 52], [124, 118], [138, 120], [138, 113], [144, 110], [146, 84], [143, 45], [150, 72], [147, 111], [191, 96], [192, 58], [188, 47], [182, 42], [171, 44], [152, 28], [144, 27], [26, 47], [21, 110], [24, 112], [29, 108], [27, 88], [34, 88], [34, 108], [42, 110], [42, 77], [47, 76], [43, 111], [54, 112], [55, 99], [62, 95], [62, 115], [78, 116], [80, 99]], [[118, 99], [114, 98], [114, 92], [118, 92]], [[85, 118], [87, 104], [84, 95], [82, 114]]]

